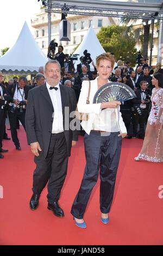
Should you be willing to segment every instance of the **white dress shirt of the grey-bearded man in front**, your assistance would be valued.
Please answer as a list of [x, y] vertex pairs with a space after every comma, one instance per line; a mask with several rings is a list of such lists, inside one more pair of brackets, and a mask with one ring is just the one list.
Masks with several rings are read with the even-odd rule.
[[63, 114], [62, 114], [62, 102], [61, 102], [61, 94], [60, 94], [60, 87], [57, 84], [58, 90], [49, 88], [51, 87], [46, 82], [46, 87], [48, 89], [48, 93], [51, 97], [53, 108], [54, 108], [54, 118], [53, 118], [53, 125], [52, 125], [52, 133], [60, 133], [64, 131], [64, 124], [63, 124]]

